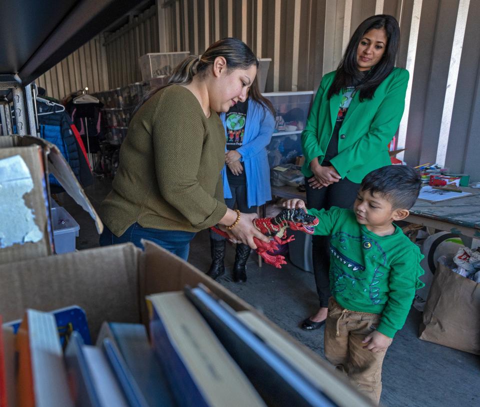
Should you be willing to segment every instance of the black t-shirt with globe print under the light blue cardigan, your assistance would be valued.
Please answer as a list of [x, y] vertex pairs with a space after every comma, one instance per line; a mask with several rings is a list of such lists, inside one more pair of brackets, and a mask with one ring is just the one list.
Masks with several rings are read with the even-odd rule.
[[[248, 101], [245, 101], [236, 103], [235, 106], [232, 106], [228, 112], [226, 112], [225, 123], [227, 150], [236, 150], [243, 144], [247, 110]], [[226, 167], [226, 175], [230, 185], [243, 185], [246, 182], [243, 164], [242, 168], [243, 170], [240, 175], [233, 175], [228, 166]]]

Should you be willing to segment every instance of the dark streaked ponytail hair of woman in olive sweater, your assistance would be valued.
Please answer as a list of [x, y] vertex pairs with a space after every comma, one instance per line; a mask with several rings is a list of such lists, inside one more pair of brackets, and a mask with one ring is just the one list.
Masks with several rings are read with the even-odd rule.
[[218, 40], [210, 45], [202, 55], [190, 55], [180, 62], [173, 69], [167, 84], [148, 91], [133, 111], [133, 114], [160, 89], [173, 84], [187, 85], [195, 75], [204, 77], [207, 69], [213, 65], [217, 57], [225, 58], [227, 69], [248, 69], [252, 65], [258, 68], [258, 60], [255, 54], [244, 42], [236, 38]]

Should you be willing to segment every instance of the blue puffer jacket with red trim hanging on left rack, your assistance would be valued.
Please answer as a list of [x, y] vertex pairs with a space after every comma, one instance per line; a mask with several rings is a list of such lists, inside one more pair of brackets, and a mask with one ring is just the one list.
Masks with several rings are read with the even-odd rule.
[[[70, 165], [73, 174], [82, 187], [93, 183], [85, 147], [78, 130], [71, 122], [66, 112], [56, 112], [56, 106], [50, 106], [37, 101], [38, 113], [50, 113], [38, 116], [40, 137], [58, 147], [61, 154]], [[50, 174], [50, 190], [52, 193], [62, 192], [63, 188]]]

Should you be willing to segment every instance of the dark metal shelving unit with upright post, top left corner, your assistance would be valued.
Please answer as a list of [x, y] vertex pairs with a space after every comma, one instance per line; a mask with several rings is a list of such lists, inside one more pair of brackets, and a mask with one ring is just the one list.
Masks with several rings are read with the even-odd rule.
[[0, 2], [0, 94], [11, 93], [16, 134], [36, 134], [30, 84], [139, 3], [142, 2]]

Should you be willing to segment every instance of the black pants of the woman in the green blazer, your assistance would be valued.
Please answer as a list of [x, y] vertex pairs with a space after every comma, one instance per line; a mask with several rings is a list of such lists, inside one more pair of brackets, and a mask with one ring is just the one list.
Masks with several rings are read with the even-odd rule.
[[[341, 179], [327, 187], [313, 189], [308, 185], [308, 178], [305, 178], [306, 205], [308, 208], [328, 210], [332, 206], [350, 209], [356, 199], [356, 193], [360, 184]], [[330, 297], [330, 237], [312, 237], [312, 258], [313, 274], [315, 276], [316, 292], [320, 301], [320, 307], [328, 306]]]

